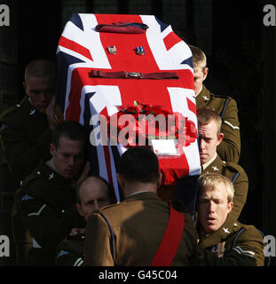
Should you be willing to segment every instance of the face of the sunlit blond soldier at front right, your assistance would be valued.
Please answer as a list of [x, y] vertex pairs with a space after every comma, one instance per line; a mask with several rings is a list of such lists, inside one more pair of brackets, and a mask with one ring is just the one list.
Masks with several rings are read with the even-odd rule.
[[227, 200], [224, 183], [206, 186], [199, 198], [198, 218], [205, 233], [216, 232], [224, 223], [228, 213], [233, 209], [233, 202]]

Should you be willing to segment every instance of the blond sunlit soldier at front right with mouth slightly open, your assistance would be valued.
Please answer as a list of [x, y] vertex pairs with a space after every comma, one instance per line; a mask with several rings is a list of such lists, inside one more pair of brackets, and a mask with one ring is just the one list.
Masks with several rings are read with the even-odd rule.
[[241, 259], [241, 255], [254, 257], [256, 265], [264, 265], [264, 240], [256, 227], [226, 221], [233, 209], [234, 189], [230, 179], [215, 173], [202, 175], [198, 192], [200, 248], [209, 249], [217, 257], [236, 251], [239, 255], [232, 259], [232, 265], [248, 265], [248, 260]]

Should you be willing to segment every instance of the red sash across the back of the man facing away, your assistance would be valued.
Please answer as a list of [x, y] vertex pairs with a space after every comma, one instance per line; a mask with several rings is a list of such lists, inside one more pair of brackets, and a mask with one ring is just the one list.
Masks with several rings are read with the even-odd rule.
[[170, 266], [183, 235], [185, 217], [173, 209], [170, 202], [170, 219], [151, 266]]

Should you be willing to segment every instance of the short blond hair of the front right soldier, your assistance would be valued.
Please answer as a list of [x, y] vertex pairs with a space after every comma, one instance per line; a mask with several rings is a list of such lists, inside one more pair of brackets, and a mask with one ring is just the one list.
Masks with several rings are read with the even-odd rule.
[[199, 197], [207, 186], [211, 187], [212, 190], [214, 190], [214, 188], [216, 188], [216, 186], [219, 184], [225, 185], [228, 203], [233, 202], [234, 188], [232, 181], [228, 177], [216, 173], [206, 173], [198, 179]]

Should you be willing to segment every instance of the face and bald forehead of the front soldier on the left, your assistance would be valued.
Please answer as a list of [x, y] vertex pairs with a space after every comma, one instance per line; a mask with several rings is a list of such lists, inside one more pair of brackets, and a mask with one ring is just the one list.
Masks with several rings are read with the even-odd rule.
[[95, 177], [89, 178], [81, 185], [79, 197], [81, 204], [76, 204], [76, 208], [86, 221], [93, 212], [111, 204], [107, 186]]

